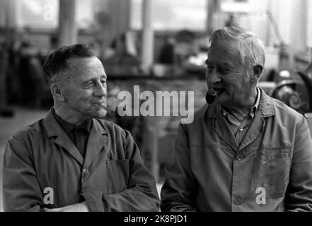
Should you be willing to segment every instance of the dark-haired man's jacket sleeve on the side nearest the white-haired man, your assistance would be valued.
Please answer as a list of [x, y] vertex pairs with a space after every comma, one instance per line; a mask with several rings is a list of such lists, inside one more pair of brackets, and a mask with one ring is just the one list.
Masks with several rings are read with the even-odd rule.
[[145, 167], [139, 148], [129, 131], [126, 131], [125, 136], [125, 152], [129, 157], [130, 171], [127, 189], [115, 194], [103, 194], [98, 191], [82, 194], [91, 212], [155, 212], [159, 210], [160, 201], [155, 179]]

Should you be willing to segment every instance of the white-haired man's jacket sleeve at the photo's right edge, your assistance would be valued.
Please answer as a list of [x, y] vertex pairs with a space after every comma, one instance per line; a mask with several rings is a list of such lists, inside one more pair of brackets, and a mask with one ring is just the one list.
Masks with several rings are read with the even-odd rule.
[[312, 140], [304, 117], [295, 136], [285, 207], [287, 211], [312, 211]]

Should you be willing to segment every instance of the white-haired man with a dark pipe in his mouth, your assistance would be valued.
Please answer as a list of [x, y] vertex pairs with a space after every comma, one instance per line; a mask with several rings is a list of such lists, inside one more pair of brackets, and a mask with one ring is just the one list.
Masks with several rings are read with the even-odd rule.
[[226, 27], [209, 44], [208, 104], [178, 128], [161, 210], [311, 211], [308, 124], [258, 86], [262, 42]]

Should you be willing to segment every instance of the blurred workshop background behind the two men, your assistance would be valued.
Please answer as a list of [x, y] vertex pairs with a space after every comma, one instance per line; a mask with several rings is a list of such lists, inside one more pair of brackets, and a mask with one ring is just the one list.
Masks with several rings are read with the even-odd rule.
[[[260, 37], [267, 54], [260, 86], [310, 122], [311, 0], [0, 0], [0, 168], [8, 137], [52, 106], [41, 72], [52, 49], [92, 47], [108, 74], [109, 101], [140, 85], [194, 91], [197, 110], [209, 36], [228, 25]], [[131, 131], [160, 189], [180, 117], [108, 120]], [[0, 186], [0, 210], [1, 195]]]

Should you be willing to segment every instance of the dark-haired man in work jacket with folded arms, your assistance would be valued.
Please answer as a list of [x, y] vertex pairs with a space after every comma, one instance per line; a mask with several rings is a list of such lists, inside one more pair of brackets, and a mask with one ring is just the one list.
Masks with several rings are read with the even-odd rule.
[[43, 66], [54, 106], [8, 139], [6, 211], [158, 211], [154, 177], [129, 131], [105, 121], [102, 63], [84, 44], [61, 47]]

